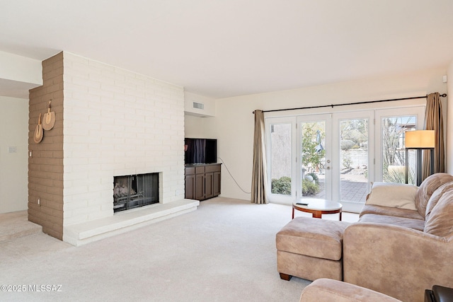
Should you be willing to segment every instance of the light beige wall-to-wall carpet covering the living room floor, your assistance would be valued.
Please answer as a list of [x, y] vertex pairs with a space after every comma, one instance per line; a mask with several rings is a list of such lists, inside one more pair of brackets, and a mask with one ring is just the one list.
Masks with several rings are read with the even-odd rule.
[[275, 234], [290, 220], [286, 205], [217, 197], [81, 247], [44, 233], [9, 240], [0, 300], [299, 301], [310, 281], [277, 272]]

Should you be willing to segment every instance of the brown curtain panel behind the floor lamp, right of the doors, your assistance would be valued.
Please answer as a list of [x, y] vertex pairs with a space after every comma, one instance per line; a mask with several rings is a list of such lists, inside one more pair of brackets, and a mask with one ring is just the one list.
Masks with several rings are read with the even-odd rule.
[[[439, 93], [430, 93], [427, 97], [425, 129], [435, 131], [434, 173], [445, 172], [444, 122]], [[423, 151], [423, 180], [430, 175], [430, 152]]]

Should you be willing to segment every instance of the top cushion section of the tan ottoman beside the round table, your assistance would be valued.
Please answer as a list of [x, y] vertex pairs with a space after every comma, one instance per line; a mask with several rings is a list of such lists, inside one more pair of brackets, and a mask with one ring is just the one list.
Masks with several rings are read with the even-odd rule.
[[277, 250], [338, 261], [348, 226], [346, 221], [296, 217], [277, 233]]

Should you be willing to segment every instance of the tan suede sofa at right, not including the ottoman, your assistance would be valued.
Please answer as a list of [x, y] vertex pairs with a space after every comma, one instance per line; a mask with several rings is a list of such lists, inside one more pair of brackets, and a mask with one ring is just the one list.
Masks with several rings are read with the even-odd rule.
[[453, 287], [453, 176], [427, 178], [415, 209], [372, 204], [375, 193], [343, 234], [343, 280], [401, 301], [423, 301], [435, 284]]

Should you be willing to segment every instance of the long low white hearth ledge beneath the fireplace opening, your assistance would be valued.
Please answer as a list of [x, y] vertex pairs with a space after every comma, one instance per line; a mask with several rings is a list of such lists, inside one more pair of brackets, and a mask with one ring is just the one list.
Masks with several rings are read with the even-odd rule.
[[64, 226], [63, 241], [76, 246], [84, 245], [195, 211], [199, 205], [198, 200], [181, 199], [167, 204], [150, 204], [145, 207], [120, 211], [103, 219]]

